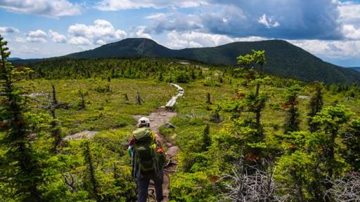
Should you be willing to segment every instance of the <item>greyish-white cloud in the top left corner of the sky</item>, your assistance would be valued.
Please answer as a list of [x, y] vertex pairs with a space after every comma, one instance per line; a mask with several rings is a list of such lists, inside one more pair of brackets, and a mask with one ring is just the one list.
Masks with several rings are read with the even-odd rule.
[[59, 18], [68, 15], [81, 14], [81, 6], [67, 0], [2, 0], [0, 8], [15, 13], [42, 15]]

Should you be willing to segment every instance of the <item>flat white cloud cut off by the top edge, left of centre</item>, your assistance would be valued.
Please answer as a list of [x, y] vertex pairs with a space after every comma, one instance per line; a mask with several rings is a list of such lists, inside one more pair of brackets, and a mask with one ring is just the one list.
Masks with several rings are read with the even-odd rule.
[[95, 8], [102, 11], [119, 11], [138, 8], [191, 8], [202, 4], [206, 4], [206, 2], [193, 0], [101, 0]]

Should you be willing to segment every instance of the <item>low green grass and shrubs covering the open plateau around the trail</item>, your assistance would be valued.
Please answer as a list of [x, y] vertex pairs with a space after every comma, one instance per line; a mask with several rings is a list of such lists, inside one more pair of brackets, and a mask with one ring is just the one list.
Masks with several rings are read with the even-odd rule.
[[[71, 62], [72, 65], [76, 64], [74, 61]], [[83, 62], [82, 64], [86, 64], [89, 61]], [[106, 62], [103, 60], [98, 65], [105, 65]], [[152, 62], [150, 64], [156, 64], [156, 61]], [[162, 62], [161, 64], [167, 64], [169, 61], [162, 60]], [[135, 63], [139, 65], [139, 69], [146, 68], [146, 62], [135, 61]], [[41, 156], [39, 158], [41, 165], [45, 165], [43, 169], [46, 176], [45, 185], [39, 187], [44, 201], [95, 201], [94, 198], [98, 197], [96, 194], [100, 194], [101, 201], [135, 201], [136, 184], [131, 179], [130, 159], [127, 154], [127, 141], [136, 123], [132, 116], [150, 114], [165, 105], [169, 98], [176, 94], [175, 88], [169, 86], [166, 81], [178, 79], [184, 81], [179, 84], [184, 88], [185, 95], [178, 100], [179, 103], [175, 107], [178, 115], [170, 121], [176, 128], [160, 128], [162, 135], [180, 147], [179, 167], [171, 176], [170, 198], [173, 201], [218, 201], [222, 197], [220, 194], [224, 191], [224, 187], [218, 180], [225, 174], [231, 173], [238, 159], [241, 158], [239, 145], [243, 142], [238, 135], [238, 129], [242, 130], [242, 128], [234, 129], [233, 126], [237, 124], [236, 121], [240, 122], [254, 116], [253, 112], [243, 112], [234, 121], [231, 119], [233, 116], [231, 108], [233, 102], [240, 100], [237, 98], [237, 93], [241, 91], [250, 94], [255, 90], [255, 86], [244, 85], [246, 79], [241, 79], [235, 71], [226, 72], [229, 69], [221, 72], [221, 67], [179, 65], [179, 63], [172, 63], [170, 67], [171, 69], [167, 69], [166, 74], [162, 75], [163, 79], [159, 79], [158, 69], [165, 67], [153, 67], [148, 79], [125, 79], [124, 77], [129, 75], [135, 75], [134, 78], [146, 77], [144, 72], [134, 68], [131, 74], [120, 76], [121, 79], [113, 78], [108, 69], [109, 71], [104, 75], [89, 79], [29, 79], [16, 83], [16, 86], [25, 88], [27, 95], [40, 93], [27, 99], [32, 113], [30, 114], [33, 121], [30, 125], [34, 129], [32, 135], [37, 140], [32, 145], [35, 153]], [[191, 70], [194, 71], [193, 74]], [[51, 69], [46, 71], [48, 71], [45, 72], [46, 78], [56, 77]], [[40, 74], [35, 72], [35, 75]], [[101, 76], [109, 79], [101, 79]], [[74, 75], [69, 77], [74, 78]], [[63, 142], [57, 154], [46, 152], [50, 151], [53, 138], [49, 127], [50, 122], [53, 121], [49, 117], [48, 94], [51, 93], [51, 83], [56, 87], [60, 106], [63, 106], [56, 109], [56, 121], [60, 126], [62, 137], [83, 130], [100, 131], [90, 140]], [[314, 93], [313, 84], [271, 76], [260, 88], [260, 94], [269, 95], [266, 107], [262, 111], [262, 123], [266, 152], [274, 155], [275, 163], [278, 163], [281, 155], [288, 152], [279, 137], [286, 135], [283, 132], [286, 117], [283, 107], [285, 92], [295, 84], [302, 87], [299, 95], [303, 96], [297, 99], [300, 130], [307, 130], [309, 97]], [[81, 103], [79, 90], [82, 90], [84, 95], [84, 109], [79, 105]], [[138, 92], [143, 100], [142, 105], [136, 105]], [[210, 93], [210, 103], [208, 93]], [[360, 116], [359, 88], [328, 86], [323, 93], [325, 107], [333, 106], [335, 103], [342, 104], [354, 112], [351, 119]], [[125, 94], [129, 100], [124, 98]], [[217, 113], [220, 119], [213, 121]], [[211, 141], [205, 144], [207, 126], [210, 126]], [[0, 133], [0, 139], [2, 135], [4, 133]], [[86, 145], [89, 145], [89, 149], [86, 149]], [[0, 154], [5, 154], [6, 151], [6, 147], [1, 147]], [[88, 176], [89, 163], [84, 156], [90, 156], [94, 164], [97, 191], [91, 189], [91, 180]], [[339, 156], [337, 158], [340, 159]], [[342, 173], [345, 173], [350, 166], [343, 168]], [[0, 188], [5, 190], [4, 193], [12, 191], [3, 187], [1, 183]], [[1, 196], [0, 192], [0, 200], [1, 197], [6, 195]], [[16, 199], [11, 200], [16, 201]]]

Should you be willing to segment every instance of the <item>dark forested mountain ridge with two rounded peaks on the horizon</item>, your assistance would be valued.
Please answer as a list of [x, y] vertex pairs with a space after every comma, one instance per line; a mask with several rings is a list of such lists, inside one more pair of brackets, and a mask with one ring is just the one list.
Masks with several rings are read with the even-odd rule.
[[302, 81], [359, 83], [360, 72], [324, 62], [311, 53], [283, 40], [233, 42], [210, 48], [172, 50], [151, 39], [129, 38], [93, 50], [64, 55], [65, 58], [158, 57], [184, 58], [212, 64], [236, 65], [236, 57], [266, 50], [265, 72]]

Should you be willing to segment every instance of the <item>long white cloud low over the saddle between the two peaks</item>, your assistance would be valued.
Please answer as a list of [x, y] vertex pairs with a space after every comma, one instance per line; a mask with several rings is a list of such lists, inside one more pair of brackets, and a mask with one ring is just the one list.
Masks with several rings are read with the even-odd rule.
[[167, 34], [169, 48], [200, 48], [220, 46], [234, 41], [260, 41], [262, 37], [249, 36], [245, 38], [232, 38], [224, 34], [207, 34], [203, 32], [176, 32]]

